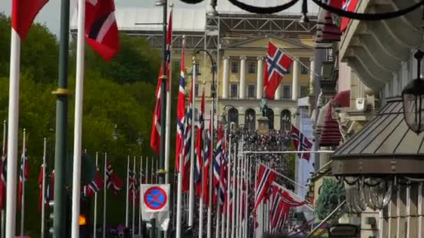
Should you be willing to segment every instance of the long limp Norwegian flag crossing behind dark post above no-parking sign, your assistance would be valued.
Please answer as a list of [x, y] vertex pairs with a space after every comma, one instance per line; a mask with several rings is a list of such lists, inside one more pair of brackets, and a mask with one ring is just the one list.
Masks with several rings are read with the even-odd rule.
[[[172, 10], [171, 13], [169, 13], [169, 23], [168, 23], [168, 30], [167, 30], [167, 65], [166, 65], [166, 74], [167, 78], [169, 78], [169, 64], [171, 59], [171, 45], [172, 45]], [[162, 72], [163, 72], [163, 66], [160, 66], [159, 70], [159, 77], [158, 77], [158, 86], [156, 86], [156, 106], [155, 111], [153, 113], [153, 122], [151, 125], [151, 135], [150, 135], [150, 147], [156, 154], [159, 154], [160, 150], [160, 114], [162, 112], [162, 95], [160, 93], [160, 88], [162, 87]]]

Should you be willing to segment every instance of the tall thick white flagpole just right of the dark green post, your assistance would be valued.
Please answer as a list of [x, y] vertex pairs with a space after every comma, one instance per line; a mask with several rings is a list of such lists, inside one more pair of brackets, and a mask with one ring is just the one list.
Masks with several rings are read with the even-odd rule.
[[77, 73], [75, 85], [74, 161], [71, 237], [79, 237], [79, 196], [81, 191], [82, 100], [84, 94], [85, 1], [78, 0]]

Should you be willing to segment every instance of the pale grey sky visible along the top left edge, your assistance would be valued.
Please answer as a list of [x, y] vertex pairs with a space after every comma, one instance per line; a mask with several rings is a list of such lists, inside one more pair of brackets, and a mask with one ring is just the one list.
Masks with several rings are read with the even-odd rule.
[[[61, 0], [50, 0], [46, 6], [40, 11], [35, 21], [45, 23], [53, 33], [59, 33], [59, 17], [60, 17], [60, 2]], [[171, 1], [169, 1], [171, 2]], [[179, 0], [173, 1], [176, 6], [190, 7]], [[71, 16], [75, 9], [77, 0], [70, 0]], [[154, 7], [155, 0], [115, 0], [116, 8], [119, 7]], [[10, 15], [12, 1], [2, 1], [0, 4], [0, 12]]]

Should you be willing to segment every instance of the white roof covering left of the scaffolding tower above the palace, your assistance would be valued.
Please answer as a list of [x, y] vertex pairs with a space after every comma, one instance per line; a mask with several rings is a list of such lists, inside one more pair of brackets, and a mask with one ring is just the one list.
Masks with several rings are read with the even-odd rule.
[[[169, 13], [169, 11], [168, 11]], [[137, 23], [162, 22], [162, 8], [116, 8], [116, 23], [120, 31], [162, 31], [162, 25], [137, 25]], [[174, 8], [173, 31], [203, 32], [206, 24], [204, 8]], [[70, 29], [77, 28], [77, 14], [72, 16]]]

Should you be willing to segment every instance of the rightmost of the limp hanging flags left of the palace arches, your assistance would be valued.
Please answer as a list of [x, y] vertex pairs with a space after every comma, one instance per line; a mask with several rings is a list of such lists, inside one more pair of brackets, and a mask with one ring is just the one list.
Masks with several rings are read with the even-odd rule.
[[218, 129], [218, 141], [216, 143], [216, 152], [215, 158], [213, 159], [213, 203], [218, 202], [220, 205], [223, 204], [224, 200], [219, 196], [218, 190], [220, 189], [220, 173], [222, 166], [222, 123], [220, 123], [220, 128]]

